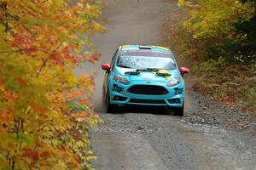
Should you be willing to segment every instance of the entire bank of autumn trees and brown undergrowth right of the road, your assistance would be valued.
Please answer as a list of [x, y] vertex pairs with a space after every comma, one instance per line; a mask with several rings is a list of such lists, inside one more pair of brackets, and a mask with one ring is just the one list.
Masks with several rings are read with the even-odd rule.
[[179, 61], [192, 67], [192, 88], [256, 111], [256, 1], [179, 0], [178, 5], [165, 38]]

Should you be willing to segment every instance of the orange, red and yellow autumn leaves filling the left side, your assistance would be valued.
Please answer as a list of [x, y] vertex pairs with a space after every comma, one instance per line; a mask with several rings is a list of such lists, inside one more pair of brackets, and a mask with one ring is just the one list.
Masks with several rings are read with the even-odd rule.
[[[70, 3], [72, 2], [72, 3]], [[98, 23], [100, 1], [0, 1], [0, 168], [91, 169], [93, 79], [75, 77]]]

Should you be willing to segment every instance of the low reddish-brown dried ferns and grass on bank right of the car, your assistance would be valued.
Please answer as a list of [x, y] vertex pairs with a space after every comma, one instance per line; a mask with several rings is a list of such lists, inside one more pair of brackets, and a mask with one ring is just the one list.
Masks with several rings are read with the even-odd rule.
[[210, 60], [191, 69], [192, 89], [247, 111], [256, 111], [256, 77], [252, 68]]

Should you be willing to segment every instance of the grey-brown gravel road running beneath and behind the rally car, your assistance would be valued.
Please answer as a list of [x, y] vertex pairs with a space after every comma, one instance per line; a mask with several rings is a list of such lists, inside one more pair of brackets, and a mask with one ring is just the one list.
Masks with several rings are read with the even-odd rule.
[[[108, 32], [94, 38], [102, 60], [81, 64], [78, 75], [99, 71], [94, 101], [105, 123], [91, 132], [102, 170], [248, 169], [256, 170], [256, 117], [236, 111], [189, 89], [185, 116], [160, 108], [131, 108], [107, 114], [102, 107], [102, 63], [120, 44], [161, 45], [166, 14], [174, 0], [105, 0]], [[186, 76], [189, 78], [189, 75]]]

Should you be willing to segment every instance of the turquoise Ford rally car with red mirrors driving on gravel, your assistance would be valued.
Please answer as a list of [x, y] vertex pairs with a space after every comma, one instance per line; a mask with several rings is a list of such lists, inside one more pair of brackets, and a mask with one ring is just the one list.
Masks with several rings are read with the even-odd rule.
[[159, 46], [120, 46], [106, 71], [103, 99], [107, 112], [118, 105], [157, 105], [174, 109], [183, 116], [185, 67], [177, 62], [169, 48]]

